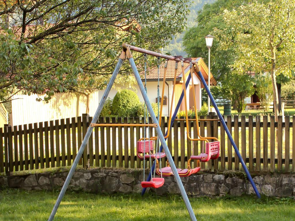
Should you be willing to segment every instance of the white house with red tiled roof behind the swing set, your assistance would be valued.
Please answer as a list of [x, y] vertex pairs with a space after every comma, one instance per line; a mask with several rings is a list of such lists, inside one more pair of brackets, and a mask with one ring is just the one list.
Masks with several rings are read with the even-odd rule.
[[[199, 69], [204, 76], [204, 79], [208, 83], [208, 67], [205, 64], [204, 60], [201, 57], [198, 58], [193, 58], [199, 66]], [[170, 112], [170, 107], [172, 103], [172, 108], [174, 110], [178, 99], [182, 93], [183, 90], [183, 76], [182, 76], [182, 70], [181, 70], [181, 64], [178, 63], [178, 70], [177, 70], [177, 77], [176, 77], [176, 86], [175, 86], [175, 93], [174, 93], [174, 99], [171, 100], [172, 98], [172, 90], [173, 90], [173, 80], [174, 80], [174, 70], [175, 70], [175, 61], [168, 61], [167, 65], [167, 72], [166, 72], [166, 82], [165, 82], [165, 94], [164, 94], [164, 101], [163, 101], [163, 116], [168, 116]], [[184, 70], [185, 70], [185, 79], [190, 74], [189, 70], [189, 63], [184, 63]], [[143, 73], [140, 72], [141, 76], [143, 76]], [[160, 73], [159, 73], [159, 79], [160, 79], [160, 96], [162, 95], [162, 87], [163, 87], [163, 77], [164, 77], [164, 62], [160, 66]], [[145, 79], [142, 77], [142, 82], [144, 83]], [[210, 74], [210, 83], [212, 86], [217, 85], [217, 82], [212, 75]], [[119, 85], [117, 85], [119, 87]], [[158, 86], [158, 69], [157, 67], [148, 70], [147, 72], [147, 93], [148, 93], [148, 98], [151, 103], [157, 103], [157, 86]], [[194, 100], [193, 100], [193, 90], [192, 90], [192, 83], [190, 81], [189, 87], [187, 88], [187, 106], [189, 109], [194, 109]], [[123, 89], [123, 87], [121, 87]], [[194, 88], [195, 88], [195, 93], [196, 93], [196, 100], [197, 100], [197, 110], [200, 110], [201, 108], [201, 88], [204, 88], [204, 85], [201, 83], [201, 80], [199, 77], [194, 73]], [[131, 88], [130, 88], [131, 89]], [[143, 102], [142, 95], [140, 93], [138, 85], [135, 86], [135, 88], [131, 89], [134, 90], [140, 101]], [[102, 95], [104, 93], [104, 90], [99, 93], [99, 99], [101, 99]], [[112, 89], [109, 93], [109, 98], [114, 98], [116, 95], [117, 90]], [[185, 110], [185, 104], [184, 101], [182, 102], [182, 105], [180, 106], [180, 110]], [[172, 112], [173, 113], [173, 112]]]

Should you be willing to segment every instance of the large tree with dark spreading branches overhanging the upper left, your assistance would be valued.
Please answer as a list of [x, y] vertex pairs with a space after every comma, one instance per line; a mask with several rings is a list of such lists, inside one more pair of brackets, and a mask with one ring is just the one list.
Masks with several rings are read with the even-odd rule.
[[[182, 32], [188, 8], [188, 0], [1, 1], [0, 100], [101, 89], [123, 42], [163, 47]], [[123, 66], [122, 76], [129, 71]]]

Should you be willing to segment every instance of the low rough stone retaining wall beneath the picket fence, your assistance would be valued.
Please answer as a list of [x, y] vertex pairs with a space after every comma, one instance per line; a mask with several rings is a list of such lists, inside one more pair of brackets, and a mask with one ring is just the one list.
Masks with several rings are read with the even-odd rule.
[[[61, 189], [68, 171], [36, 173], [0, 177], [0, 187], [25, 190]], [[181, 177], [184, 188], [191, 196], [218, 197], [226, 194], [240, 196], [255, 194], [251, 184], [242, 173], [226, 172], [198, 173], [190, 177]], [[254, 176], [258, 191], [266, 196], [295, 197], [295, 174], [265, 174]], [[115, 192], [139, 193], [142, 190], [142, 170], [130, 169], [91, 169], [77, 170], [71, 179], [69, 189], [94, 193], [112, 194]], [[150, 189], [157, 194], [179, 194], [173, 177], [165, 177], [165, 184], [158, 189]]]

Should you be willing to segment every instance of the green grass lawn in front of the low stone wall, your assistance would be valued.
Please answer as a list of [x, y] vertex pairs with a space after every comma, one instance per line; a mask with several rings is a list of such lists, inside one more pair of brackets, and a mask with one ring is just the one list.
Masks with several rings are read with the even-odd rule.
[[[0, 220], [47, 220], [59, 192], [6, 189], [0, 194]], [[192, 198], [197, 220], [294, 220], [290, 198], [255, 196]], [[97, 195], [67, 192], [55, 220], [189, 220], [179, 196]]]

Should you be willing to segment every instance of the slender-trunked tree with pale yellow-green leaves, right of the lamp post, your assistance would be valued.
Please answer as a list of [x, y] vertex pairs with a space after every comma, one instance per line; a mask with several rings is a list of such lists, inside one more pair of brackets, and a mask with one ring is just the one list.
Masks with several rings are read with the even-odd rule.
[[294, 0], [243, 4], [236, 10], [224, 11], [224, 22], [229, 29], [216, 30], [226, 39], [221, 42], [222, 49], [235, 50], [237, 57], [230, 66], [235, 72], [251, 70], [270, 73], [276, 120], [279, 114], [276, 77], [291, 75], [295, 68], [294, 5]]

